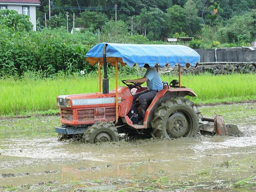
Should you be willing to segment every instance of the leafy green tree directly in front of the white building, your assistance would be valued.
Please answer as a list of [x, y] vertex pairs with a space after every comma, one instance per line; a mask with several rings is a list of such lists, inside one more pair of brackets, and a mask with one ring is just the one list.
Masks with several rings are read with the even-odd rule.
[[33, 24], [28, 15], [18, 14], [14, 10], [0, 10], [0, 23], [14, 31], [31, 31]]

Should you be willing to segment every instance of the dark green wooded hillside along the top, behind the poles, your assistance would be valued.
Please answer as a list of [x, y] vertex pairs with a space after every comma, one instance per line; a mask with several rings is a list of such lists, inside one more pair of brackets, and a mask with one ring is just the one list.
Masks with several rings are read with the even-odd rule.
[[[66, 20], [64, 14], [67, 7], [76, 7], [68, 9], [70, 16], [75, 12], [75, 27], [85, 27], [91, 32], [96, 32], [98, 28], [105, 26], [108, 20], [115, 18], [115, 4], [117, 19], [126, 23], [129, 34], [143, 35], [150, 41], [163, 41], [175, 33], [197, 38], [202, 41], [202, 47], [207, 48], [213, 47], [213, 41], [219, 41], [221, 44], [256, 41], [253, 30], [256, 27], [253, 16], [256, 0], [54, 0], [52, 14], [59, 18], [58, 26], [65, 26], [62, 21]], [[55, 6], [62, 8], [55, 9]], [[82, 9], [81, 13], [78, 6]], [[98, 11], [83, 12], [83, 9], [88, 7], [97, 7]], [[43, 2], [38, 8], [41, 25], [44, 25], [43, 12], [48, 13], [47, 2]], [[59, 17], [59, 14], [62, 14], [62, 17]], [[71, 30], [73, 20], [69, 20]], [[202, 33], [205, 32], [203, 28], [208, 26], [211, 31], [208, 34]], [[239, 35], [242, 36], [239, 38]], [[212, 42], [209, 42], [209, 39]]]

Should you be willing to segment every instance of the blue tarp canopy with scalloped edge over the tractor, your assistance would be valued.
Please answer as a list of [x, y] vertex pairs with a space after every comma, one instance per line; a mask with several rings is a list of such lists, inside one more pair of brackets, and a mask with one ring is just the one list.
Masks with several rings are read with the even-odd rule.
[[127, 64], [133, 67], [138, 64], [143, 67], [148, 64], [150, 67], [155, 67], [158, 64], [160, 67], [165, 67], [169, 64], [175, 67], [175, 64], [180, 64], [185, 67], [189, 63], [192, 67], [200, 61], [200, 55], [190, 47], [183, 45], [144, 45], [144, 44], [113, 44], [101, 43], [94, 46], [86, 54], [86, 60], [94, 65], [99, 60], [103, 64], [103, 47], [106, 47], [107, 62], [115, 65], [118, 61], [122, 65]]

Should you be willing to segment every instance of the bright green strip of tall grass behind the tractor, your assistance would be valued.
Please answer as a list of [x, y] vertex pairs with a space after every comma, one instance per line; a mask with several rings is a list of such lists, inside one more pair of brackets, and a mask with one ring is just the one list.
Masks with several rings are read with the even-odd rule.
[[[122, 79], [133, 79], [135, 76], [119, 76]], [[110, 89], [115, 87], [115, 78], [110, 77]], [[173, 76], [162, 76], [163, 81], [177, 79]], [[212, 76], [182, 76], [182, 85], [194, 90], [198, 95], [191, 98], [196, 104], [216, 102], [239, 102], [256, 99], [256, 75], [233, 74]], [[56, 79], [12, 78], [0, 80], [0, 116], [26, 114], [57, 113], [56, 96], [98, 91], [97, 76], [69, 76]]]

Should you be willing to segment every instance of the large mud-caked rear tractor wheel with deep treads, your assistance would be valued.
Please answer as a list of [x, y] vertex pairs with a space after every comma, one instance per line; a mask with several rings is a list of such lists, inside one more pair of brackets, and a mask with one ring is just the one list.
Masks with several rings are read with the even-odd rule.
[[199, 131], [199, 114], [189, 99], [168, 99], [155, 111], [151, 135], [160, 139], [192, 137]]

